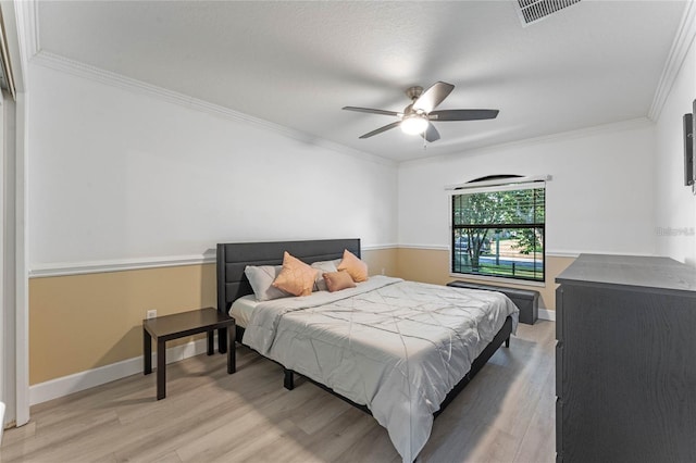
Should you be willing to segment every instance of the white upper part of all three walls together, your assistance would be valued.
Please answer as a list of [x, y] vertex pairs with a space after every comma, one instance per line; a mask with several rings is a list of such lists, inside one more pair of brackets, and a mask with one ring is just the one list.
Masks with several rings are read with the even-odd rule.
[[694, 261], [694, 236], [657, 230], [696, 226], [681, 123], [696, 96], [695, 54], [692, 46], [657, 125], [633, 121], [398, 167], [32, 64], [30, 268], [200, 255], [236, 240], [446, 247], [444, 186], [492, 174], [552, 175], [549, 252]]

